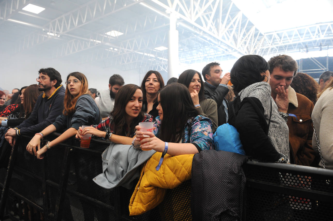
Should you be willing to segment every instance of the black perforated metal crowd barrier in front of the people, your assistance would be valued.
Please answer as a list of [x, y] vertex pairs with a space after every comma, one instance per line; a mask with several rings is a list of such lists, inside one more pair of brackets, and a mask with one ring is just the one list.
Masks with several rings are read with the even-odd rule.
[[[0, 220], [4, 214], [11, 220], [192, 219], [190, 180], [167, 190], [164, 202], [153, 210], [129, 216], [133, 189], [104, 189], [92, 181], [102, 171], [101, 154], [109, 142], [92, 139], [85, 149], [79, 140], [69, 139], [38, 160], [25, 149], [30, 139], [17, 141], [5, 179], [0, 178]], [[247, 162], [244, 172], [243, 220], [332, 220], [333, 170]]]

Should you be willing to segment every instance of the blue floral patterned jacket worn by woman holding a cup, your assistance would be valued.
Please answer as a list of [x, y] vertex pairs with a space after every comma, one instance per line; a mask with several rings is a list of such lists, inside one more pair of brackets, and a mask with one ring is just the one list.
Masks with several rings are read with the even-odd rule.
[[[154, 135], [159, 137], [161, 129], [160, 116], [155, 118]], [[212, 123], [209, 118], [198, 115], [187, 120], [182, 134], [181, 143], [191, 143], [198, 151], [213, 149], [213, 133], [211, 130]]]

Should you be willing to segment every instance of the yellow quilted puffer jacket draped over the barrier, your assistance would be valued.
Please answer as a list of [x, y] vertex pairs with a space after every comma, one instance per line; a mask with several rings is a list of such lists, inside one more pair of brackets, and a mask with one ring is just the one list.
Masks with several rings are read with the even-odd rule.
[[191, 178], [194, 154], [171, 156], [166, 154], [159, 170], [162, 153], [155, 153], [142, 168], [137, 186], [130, 200], [130, 216], [140, 215], [159, 205], [166, 189], [172, 189]]

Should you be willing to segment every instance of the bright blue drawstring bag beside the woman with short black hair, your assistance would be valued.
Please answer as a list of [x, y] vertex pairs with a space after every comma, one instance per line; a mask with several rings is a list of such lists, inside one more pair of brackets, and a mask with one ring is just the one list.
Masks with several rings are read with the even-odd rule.
[[246, 155], [235, 127], [226, 123], [219, 126], [213, 135], [215, 150]]

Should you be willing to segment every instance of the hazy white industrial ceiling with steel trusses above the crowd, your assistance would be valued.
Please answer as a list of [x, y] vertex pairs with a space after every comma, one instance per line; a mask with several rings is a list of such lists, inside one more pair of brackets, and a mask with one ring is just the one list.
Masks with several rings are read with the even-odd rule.
[[[171, 14], [177, 18], [179, 64], [208, 63], [247, 54], [266, 56], [333, 48], [333, 19], [285, 30], [270, 27], [271, 30], [264, 33], [263, 28], [261, 31], [257, 28], [264, 27], [262, 24], [252, 23], [260, 22], [258, 13], [286, 2], [253, 1], [253, 4], [266, 5], [256, 12], [259, 20], [251, 17], [248, 11], [245, 16], [248, 6], [240, 10], [242, 2], [2, 0], [0, 49], [3, 53], [30, 50], [53, 59], [75, 58], [78, 63], [114, 66], [122, 70], [167, 71]], [[22, 10], [29, 4], [45, 10], [38, 14]], [[284, 16], [283, 12], [281, 16]], [[299, 16], [308, 15], [300, 13]], [[262, 17], [262, 21], [269, 19], [275, 18]]]

